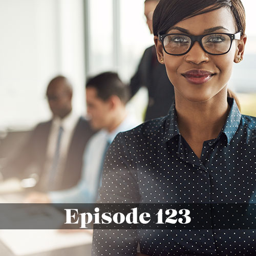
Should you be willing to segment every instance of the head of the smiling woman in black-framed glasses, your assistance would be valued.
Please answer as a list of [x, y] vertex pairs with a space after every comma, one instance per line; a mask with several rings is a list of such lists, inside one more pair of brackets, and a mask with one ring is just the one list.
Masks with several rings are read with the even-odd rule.
[[[163, 30], [165, 28], [161, 28], [161, 24], [159, 27], [157, 23], [154, 24], [154, 33], [158, 57], [164, 59], [168, 77], [172, 83], [176, 83], [176, 86], [174, 84], [176, 96], [185, 94], [187, 99], [202, 102], [214, 97], [227, 86], [233, 62], [239, 62], [243, 57], [246, 35], [244, 34], [245, 26], [240, 25], [242, 22], [239, 22], [240, 27], [234, 23], [234, 16], [230, 9], [216, 10], [215, 5], [207, 7], [210, 1], [200, 2], [203, 2], [200, 10], [190, 13], [189, 18], [179, 18], [178, 23], [177, 20], [171, 20], [167, 30]], [[195, 6], [197, 5], [194, 4], [191, 8], [195, 9]], [[170, 7], [171, 5], [164, 10], [162, 20]], [[156, 12], [156, 16], [157, 14], [159, 12]], [[165, 33], [167, 35], [164, 35]], [[171, 50], [168, 44], [166, 50], [164, 39], [173, 38], [173, 34], [176, 36], [176, 41], [177, 36], [181, 36], [185, 42], [184, 40], [182, 44], [176, 42], [177, 47], [171, 47]], [[208, 82], [207, 87], [204, 86], [205, 82]], [[200, 86], [195, 87], [195, 84]], [[226, 90], [223, 92], [225, 93]]]

